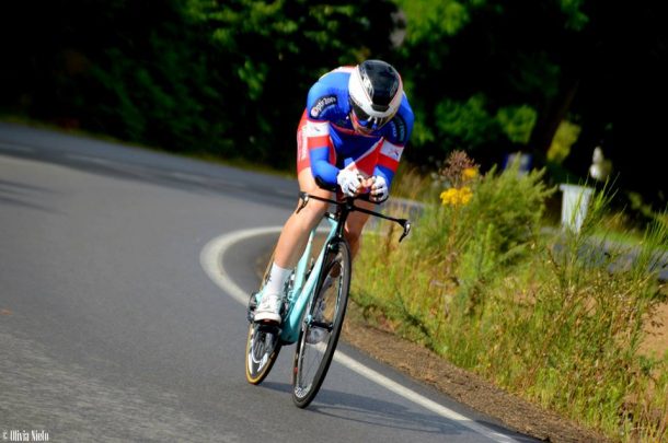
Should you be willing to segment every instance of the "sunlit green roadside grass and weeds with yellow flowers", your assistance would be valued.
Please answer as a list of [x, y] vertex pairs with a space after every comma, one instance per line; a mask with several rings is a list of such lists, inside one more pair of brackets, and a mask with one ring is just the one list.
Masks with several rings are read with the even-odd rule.
[[648, 269], [668, 226], [610, 243], [599, 193], [579, 233], [544, 232], [540, 173], [472, 187], [468, 205], [435, 201], [401, 245], [384, 224], [367, 237], [353, 282], [366, 317], [615, 441], [668, 441], [668, 355], [638, 351], [666, 302]]

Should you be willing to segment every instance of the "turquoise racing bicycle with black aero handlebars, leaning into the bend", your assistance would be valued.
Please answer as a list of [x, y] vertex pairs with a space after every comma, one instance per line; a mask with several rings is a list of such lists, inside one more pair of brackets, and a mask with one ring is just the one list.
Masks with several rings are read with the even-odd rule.
[[311, 199], [331, 203], [335, 211], [323, 215], [330, 228], [316, 257], [312, 253], [318, 250], [314, 244], [318, 226], [309, 234], [306, 249], [286, 283], [280, 325], [253, 322], [273, 257], [269, 259], [260, 291], [249, 300], [245, 373], [249, 383], [261, 384], [269, 374], [280, 348], [297, 343], [292, 360], [292, 400], [298, 407], [306, 408], [325, 378], [346, 313], [352, 271], [350, 248], [344, 237], [348, 215], [359, 211], [398, 223], [403, 228], [400, 242], [408, 235], [411, 222], [355, 206], [357, 199], [368, 200], [368, 195], [343, 200], [307, 193], [300, 193], [299, 197], [298, 212]]

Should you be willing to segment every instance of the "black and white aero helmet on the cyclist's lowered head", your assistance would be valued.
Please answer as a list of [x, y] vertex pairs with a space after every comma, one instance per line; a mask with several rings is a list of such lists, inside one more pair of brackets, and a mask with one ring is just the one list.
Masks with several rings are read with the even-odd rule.
[[357, 124], [376, 130], [399, 110], [403, 84], [391, 65], [382, 60], [366, 60], [350, 73], [348, 95]]

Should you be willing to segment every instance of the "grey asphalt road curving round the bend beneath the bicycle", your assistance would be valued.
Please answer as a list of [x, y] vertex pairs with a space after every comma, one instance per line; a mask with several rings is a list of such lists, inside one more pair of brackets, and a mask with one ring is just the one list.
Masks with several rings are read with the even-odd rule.
[[290, 399], [293, 347], [245, 382], [237, 299], [275, 238], [246, 234], [281, 225], [296, 193], [0, 124], [0, 441], [530, 441], [345, 343], [307, 410]]

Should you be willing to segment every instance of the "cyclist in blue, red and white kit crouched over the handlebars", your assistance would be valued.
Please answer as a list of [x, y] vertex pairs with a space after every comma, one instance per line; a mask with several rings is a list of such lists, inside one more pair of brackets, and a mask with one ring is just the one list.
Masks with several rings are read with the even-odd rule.
[[[345, 196], [369, 194], [382, 202], [413, 129], [413, 110], [399, 72], [381, 60], [337, 68], [311, 86], [297, 129], [297, 173], [300, 190], [330, 198], [318, 182], [341, 187]], [[370, 202], [359, 206], [370, 208]], [[283, 292], [303, 253], [309, 232], [327, 203], [311, 200], [286, 222], [274, 255], [255, 322], [280, 323]], [[345, 226], [353, 256], [369, 215], [354, 212]]]

